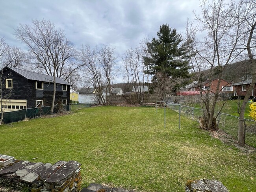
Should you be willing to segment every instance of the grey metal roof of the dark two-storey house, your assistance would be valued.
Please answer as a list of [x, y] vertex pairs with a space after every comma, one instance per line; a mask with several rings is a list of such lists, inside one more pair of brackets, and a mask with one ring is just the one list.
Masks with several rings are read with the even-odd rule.
[[[40, 73], [36, 73], [36, 72], [24, 70], [24, 69], [18, 69], [18, 68], [14, 68], [14, 67], [10, 67], [10, 66], [6, 66], [6, 68], [8, 68], [9, 70], [11, 70], [29, 80], [51, 82], [51, 83], [53, 83], [53, 81], [54, 81], [54, 76], [40, 74]], [[71, 85], [70, 83], [68, 83], [58, 77], [56, 77], [56, 83], [64, 84], [64, 85]]]

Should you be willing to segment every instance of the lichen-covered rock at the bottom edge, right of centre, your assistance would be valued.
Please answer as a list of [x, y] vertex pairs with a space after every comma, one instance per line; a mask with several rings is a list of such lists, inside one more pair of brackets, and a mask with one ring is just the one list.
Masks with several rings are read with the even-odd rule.
[[228, 189], [216, 180], [189, 180], [186, 183], [186, 192], [229, 192]]

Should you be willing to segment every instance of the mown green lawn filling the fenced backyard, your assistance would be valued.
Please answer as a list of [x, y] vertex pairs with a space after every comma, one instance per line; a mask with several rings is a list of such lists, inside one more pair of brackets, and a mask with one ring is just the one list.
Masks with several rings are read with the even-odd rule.
[[[198, 129], [197, 122], [151, 107], [92, 107], [55, 118], [0, 126], [0, 153], [32, 162], [76, 160], [83, 186], [140, 192], [184, 191], [189, 179], [217, 179], [230, 192], [256, 188], [256, 154]], [[32, 158], [38, 157], [35, 160]]]

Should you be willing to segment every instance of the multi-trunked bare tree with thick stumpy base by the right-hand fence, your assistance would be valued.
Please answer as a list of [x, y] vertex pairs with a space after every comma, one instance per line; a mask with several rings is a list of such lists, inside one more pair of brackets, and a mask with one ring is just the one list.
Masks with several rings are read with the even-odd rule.
[[[200, 118], [201, 128], [215, 130], [215, 106], [218, 95], [222, 88], [220, 86], [223, 78], [224, 68], [232, 63], [239, 55], [236, 49], [240, 37], [240, 21], [228, 18], [230, 7], [224, 4], [224, 0], [213, 0], [212, 3], [204, 0], [201, 3], [201, 15], [195, 14], [194, 22], [187, 24], [187, 45], [190, 48], [191, 65], [200, 87], [201, 107], [204, 117]], [[197, 39], [198, 33], [206, 35], [202, 40]], [[205, 89], [202, 84], [202, 71], [208, 69], [209, 87], [211, 81], [217, 77], [217, 87], [213, 92]], [[213, 95], [211, 100], [210, 96]]]

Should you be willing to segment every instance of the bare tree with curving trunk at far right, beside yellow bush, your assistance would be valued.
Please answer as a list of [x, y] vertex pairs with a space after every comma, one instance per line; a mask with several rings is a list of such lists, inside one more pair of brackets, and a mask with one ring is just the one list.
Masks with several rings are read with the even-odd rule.
[[239, 4], [231, 1], [232, 11], [229, 12], [229, 18], [240, 21], [241, 39], [238, 44], [239, 50], [246, 50], [252, 65], [252, 82], [247, 90], [245, 99], [243, 100], [241, 111], [239, 114], [239, 126], [238, 126], [238, 144], [245, 146], [245, 126], [244, 126], [244, 114], [246, 103], [249, 100], [250, 93], [254, 89], [256, 83], [256, 0], [241, 0]]

